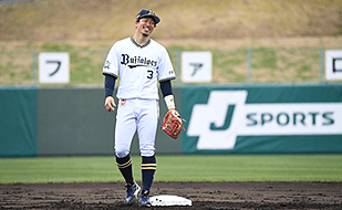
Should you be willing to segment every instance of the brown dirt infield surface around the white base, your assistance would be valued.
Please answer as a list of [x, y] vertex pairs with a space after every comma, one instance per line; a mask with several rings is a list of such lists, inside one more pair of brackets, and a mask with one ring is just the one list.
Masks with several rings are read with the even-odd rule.
[[[125, 206], [123, 182], [0, 185], [0, 209], [144, 209]], [[151, 196], [191, 207], [149, 209], [342, 209], [342, 182], [154, 182]]]

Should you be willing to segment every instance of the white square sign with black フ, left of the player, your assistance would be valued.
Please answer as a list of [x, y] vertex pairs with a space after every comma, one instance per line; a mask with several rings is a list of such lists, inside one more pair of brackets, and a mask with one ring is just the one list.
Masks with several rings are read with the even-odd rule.
[[40, 53], [39, 82], [66, 84], [70, 82], [69, 53]]

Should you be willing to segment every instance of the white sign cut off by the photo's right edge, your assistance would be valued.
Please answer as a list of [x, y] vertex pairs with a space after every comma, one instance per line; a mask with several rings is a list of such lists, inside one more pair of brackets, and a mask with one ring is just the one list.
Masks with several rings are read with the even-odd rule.
[[342, 80], [342, 50], [325, 51], [325, 78]]

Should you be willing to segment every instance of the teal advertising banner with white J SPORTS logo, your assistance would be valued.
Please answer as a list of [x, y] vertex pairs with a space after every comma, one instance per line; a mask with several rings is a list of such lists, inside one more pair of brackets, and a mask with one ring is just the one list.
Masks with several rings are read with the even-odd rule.
[[342, 153], [342, 86], [184, 87], [183, 154]]

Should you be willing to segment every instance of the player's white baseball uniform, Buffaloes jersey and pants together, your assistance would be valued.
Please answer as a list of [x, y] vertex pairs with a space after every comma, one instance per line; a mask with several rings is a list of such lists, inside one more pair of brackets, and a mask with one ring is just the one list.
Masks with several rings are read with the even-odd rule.
[[133, 38], [116, 42], [106, 57], [104, 74], [120, 80], [115, 126], [115, 153], [125, 157], [137, 130], [142, 156], [155, 153], [158, 81], [174, 80], [175, 72], [166, 49], [149, 39], [139, 46]]

